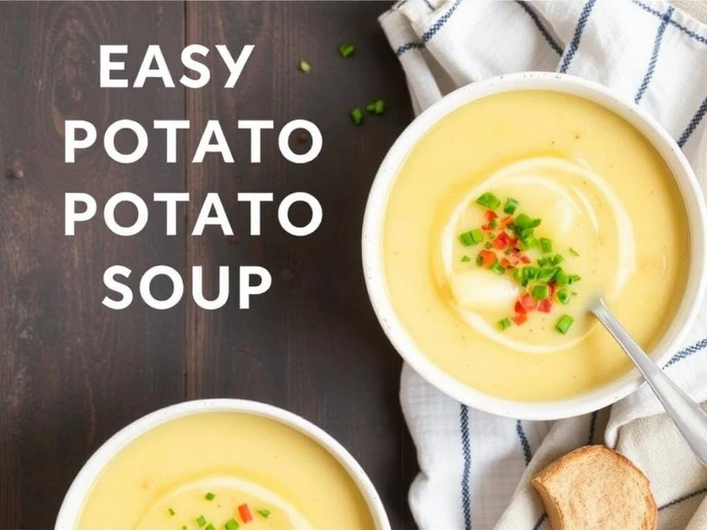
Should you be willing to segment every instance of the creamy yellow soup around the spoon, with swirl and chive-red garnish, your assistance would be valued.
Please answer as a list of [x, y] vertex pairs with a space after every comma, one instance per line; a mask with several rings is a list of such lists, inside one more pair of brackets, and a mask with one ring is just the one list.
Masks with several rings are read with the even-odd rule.
[[686, 213], [621, 117], [563, 93], [492, 95], [411, 149], [383, 233], [393, 307], [433, 363], [506, 399], [569, 398], [629, 370], [587, 314], [604, 295], [644, 348], [682, 299]]

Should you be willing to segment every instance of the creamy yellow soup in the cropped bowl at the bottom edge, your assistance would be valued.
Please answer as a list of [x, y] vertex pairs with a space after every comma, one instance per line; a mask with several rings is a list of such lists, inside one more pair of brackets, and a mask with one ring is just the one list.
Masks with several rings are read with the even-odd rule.
[[371, 530], [329, 452], [274, 420], [199, 413], [139, 437], [107, 464], [78, 530]]

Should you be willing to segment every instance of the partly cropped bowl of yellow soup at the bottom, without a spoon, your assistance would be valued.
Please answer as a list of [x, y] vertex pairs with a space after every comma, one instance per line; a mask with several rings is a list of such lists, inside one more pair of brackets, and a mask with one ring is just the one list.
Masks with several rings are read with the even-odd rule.
[[71, 484], [55, 530], [390, 530], [351, 454], [293, 413], [187, 401], [105, 442]]

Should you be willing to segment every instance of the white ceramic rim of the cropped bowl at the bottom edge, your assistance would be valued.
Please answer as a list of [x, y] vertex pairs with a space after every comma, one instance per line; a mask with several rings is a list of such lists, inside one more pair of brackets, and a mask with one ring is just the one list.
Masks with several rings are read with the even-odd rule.
[[141, 435], [144, 435], [148, 430], [152, 430], [158, 425], [167, 423], [170, 420], [184, 416], [192, 416], [192, 414], [210, 412], [232, 412], [263, 416], [264, 418], [275, 420], [307, 435], [327, 449], [327, 451], [339, 461], [339, 464], [344, 466], [344, 469], [349, 472], [349, 475], [354, 480], [354, 483], [358, 485], [358, 489], [361, 490], [361, 494], [368, 504], [368, 510], [370, 510], [371, 517], [375, 522], [375, 530], [390, 530], [390, 522], [388, 522], [385, 509], [383, 508], [382, 502], [380, 502], [378, 493], [373, 487], [373, 483], [370, 482], [370, 479], [366, 476], [366, 472], [363, 471], [354, 457], [352, 457], [339, 442], [313, 423], [308, 422], [296, 414], [275, 406], [243, 399], [185, 401], [177, 405], [160, 408], [160, 410], [143, 416], [117, 432], [88, 459], [81, 471], [78, 472], [76, 478], [74, 478], [74, 482], [71, 483], [69, 491], [66, 492], [62, 507], [59, 509], [59, 515], [57, 516], [54, 530], [74, 530], [74, 528], [76, 528], [78, 518], [81, 516], [83, 500], [86, 499], [95, 479], [98, 478], [98, 475], [103, 471], [108, 461], [122, 451], [127, 444], [136, 440], [136, 438]]

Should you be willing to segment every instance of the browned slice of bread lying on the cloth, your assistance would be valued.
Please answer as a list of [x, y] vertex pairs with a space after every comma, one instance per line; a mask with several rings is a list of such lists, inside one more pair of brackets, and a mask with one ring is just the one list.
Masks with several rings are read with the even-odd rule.
[[658, 509], [648, 478], [623, 455], [587, 445], [532, 480], [552, 530], [655, 530]]

